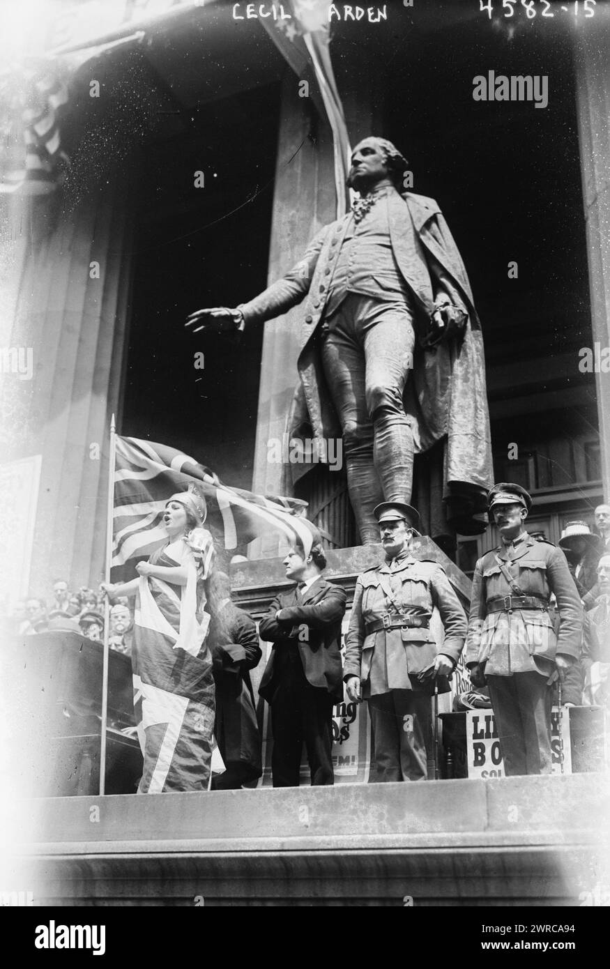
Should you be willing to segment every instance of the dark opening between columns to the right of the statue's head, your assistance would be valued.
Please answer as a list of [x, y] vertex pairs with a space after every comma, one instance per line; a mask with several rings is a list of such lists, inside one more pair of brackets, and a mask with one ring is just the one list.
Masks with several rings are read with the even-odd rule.
[[[591, 481], [600, 474], [586, 458], [598, 438], [594, 378], [578, 369], [593, 335], [574, 18], [515, 16], [510, 39], [501, 16], [464, 12], [463, 3], [421, 14], [389, 5], [376, 28], [341, 24], [339, 90], [356, 83], [357, 50], [378, 133], [401, 148], [413, 191], [436, 199], [456, 238], [482, 320], [497, 465], [516, 442], [536, 455], [531, 487]], [[490, 70], [546, 75], [548, 107], [475, 102], [473, 78]]]

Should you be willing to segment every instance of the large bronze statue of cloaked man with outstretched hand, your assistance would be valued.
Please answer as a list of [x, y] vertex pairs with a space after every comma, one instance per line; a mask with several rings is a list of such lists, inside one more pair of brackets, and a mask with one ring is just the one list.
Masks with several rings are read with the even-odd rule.
[[411, 500], [414, 454], [437, 442], [444, 500], [464, 513], [462, 522], [453, 516], [459, 531], [483, 530], [472, 519], [493, 480], [483, 341], [466, 269], [433, 199], [401, 194], [406, 169], [391, 141], [361, 141], [348, 177], [359, 195], [351, 211], [260, 296], [199, 310], [186, 324], [241, 329], [306, 297], [290, 430], [342, 435], [364, 544], [379, 541], [375, 506]]

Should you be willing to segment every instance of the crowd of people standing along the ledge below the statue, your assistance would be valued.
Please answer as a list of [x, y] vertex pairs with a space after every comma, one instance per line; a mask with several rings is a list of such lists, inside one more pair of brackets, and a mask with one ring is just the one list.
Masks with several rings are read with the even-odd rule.
[[594, 511], [597, 534], [568, 521], [556, 547], [526, 530], [531, 504], [520, 485], [489, 492], [500, 545], [476, 563], [467, 616], [443, 569], [412, 554], [417, 511], [377, 506], [385, 558], [357, 580], [344, 661], [346, 596], [323, 577], [315, 526], [303, 519], [305, 538], [284, 559], [292, 584], [257, 631], [215, 566], [206, 503], [195, 488], [167, 502], [168, 540], [138, 563], [138, 578], [102, 583], [98, 594], [73, 593], [57, 579], [50, 609], [33, 597], [10, 621], [20, 635], [70, 629], [99, 641], [109, 597], [111, 647], [132, 660], [141, 793], [208, 789], [214, 739], [225, 771], [212, 787], [240, 788], [261, 776], [250, 682], [262, 658], [259, 636], [273, 644], [259, 694], [271, 710], [275, 787], [299, 785], [304, 746], [311, 784], [334, 783], [333, 706], [344, 689], [353, 703], [369, 705], [370, 780], [425, 780], [431, 696], [449, 690], [465, 646], [473, 688], [494, 709], [505, 773], [545, 773], [557, 687], [566, 705], [610, 703], [610, 506]]

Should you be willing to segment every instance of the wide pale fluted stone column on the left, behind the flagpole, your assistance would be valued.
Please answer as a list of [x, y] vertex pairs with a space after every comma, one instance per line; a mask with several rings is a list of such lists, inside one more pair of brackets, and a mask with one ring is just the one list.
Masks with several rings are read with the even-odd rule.
[[[10, 346], [32, 349], [28, 381], [4, 381], [4, 460], [42, 455], [30, 593], [53, 578], [102, 578], [109, 431], [119, 405], [130, 279], [127, 181], [74, 208], [61, 194], [23, 200], [25, 248], [14, 266]], [[18, 248], [18, 245], [17, 245]]]

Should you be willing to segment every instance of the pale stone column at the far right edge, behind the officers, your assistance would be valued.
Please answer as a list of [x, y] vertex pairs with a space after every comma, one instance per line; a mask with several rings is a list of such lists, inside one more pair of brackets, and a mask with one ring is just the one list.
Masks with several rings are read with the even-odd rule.
[[[597, 4], [595, 16], [575, 34], [576, 104], [594, 342], [610, 346], [610, 9]], [[610, 373], [596, 373], [601, 468], [610, 497]]]

